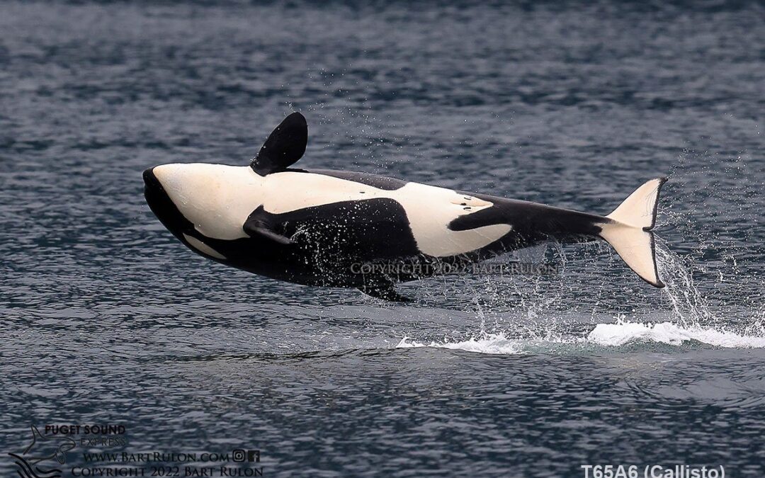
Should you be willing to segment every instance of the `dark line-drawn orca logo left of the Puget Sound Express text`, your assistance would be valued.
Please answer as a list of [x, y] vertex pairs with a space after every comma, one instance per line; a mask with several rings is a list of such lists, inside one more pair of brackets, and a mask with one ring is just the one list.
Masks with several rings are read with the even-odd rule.
[[67, 437], [44, 437], [34, 425], [31, 428], [32, 443], [20, 455], [8, 454], [16, 460], [18, 475], [21, 478], [61, 478], [61, 470], [43, 462], [67, 463], [67, 451], [73, 450], [77, 443]]

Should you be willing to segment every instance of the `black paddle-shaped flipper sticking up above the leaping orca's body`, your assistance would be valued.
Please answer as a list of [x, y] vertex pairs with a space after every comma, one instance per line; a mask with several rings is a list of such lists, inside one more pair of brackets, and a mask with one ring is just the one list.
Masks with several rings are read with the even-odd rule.
[[265, 140], [250, 167], [260, 174], [284, 171], [295, 164], [308, 144], [308, 123], [299, 112], [287, 116]]

